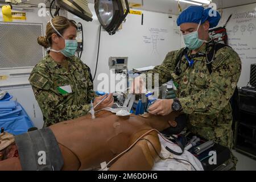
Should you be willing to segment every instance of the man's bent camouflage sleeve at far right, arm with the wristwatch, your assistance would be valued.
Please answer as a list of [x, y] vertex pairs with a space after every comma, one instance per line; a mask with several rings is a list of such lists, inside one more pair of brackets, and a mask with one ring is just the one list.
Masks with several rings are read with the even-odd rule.
[[207, 89], [179, 98], [184, 113], [216, 114], [229, 103], [241, 74], [241, 59], [232, 48], [219, 51]]

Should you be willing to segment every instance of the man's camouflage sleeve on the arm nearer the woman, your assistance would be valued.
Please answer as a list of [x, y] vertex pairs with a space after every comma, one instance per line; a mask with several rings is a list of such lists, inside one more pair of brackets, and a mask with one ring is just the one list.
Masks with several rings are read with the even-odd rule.
[[171, 51], [166, 55], [166, 58], [164, 59], [163, 63], [161, 65], [156, 66], [151, 71], [147, 72], [152, 73], [152, 86], [154, 87], [154, 75], [158, 74], [159, 76], [159, 85], [162, 85], [168, 81], [171, 80], [171, 74], [175, 71], [175, 62], [176, 58], [179, 55], [180, 51]]

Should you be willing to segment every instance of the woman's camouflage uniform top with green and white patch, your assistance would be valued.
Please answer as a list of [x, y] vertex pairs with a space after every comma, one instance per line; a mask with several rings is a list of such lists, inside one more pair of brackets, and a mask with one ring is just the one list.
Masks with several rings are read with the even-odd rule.
[[[76, 57], [67, 57], [63, 64], [47, 55], [29, 78], [40, 109], [44, 127], [85, 115], [90, 101], [96, 97], [87, 65]], [[60, 86], [71, 86], [72, 93], [63, 93]]]

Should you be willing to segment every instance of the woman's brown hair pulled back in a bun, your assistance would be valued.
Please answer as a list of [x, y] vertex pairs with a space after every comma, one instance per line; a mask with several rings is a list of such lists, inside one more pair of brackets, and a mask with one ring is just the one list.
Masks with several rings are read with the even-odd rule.
[[[52, 24], [56, 28], [56, 30], [60, 32], [61, 35], [63, 35], [64, 31], [70, 26], [73, 26], [77, 29], [75, 21], [69, 20], [64, 16], [55, 16], [55, 18], [52, 18]], [[52, 28], [51, 23], [48, 22], [46, 25], [46, 36], [38, 37], [39, 45], [43, 46], [44, 48], [51, 47], [52, 34], [57, 34], [57, 32]], [[59, 36], [59, 34], [57, 35]]]

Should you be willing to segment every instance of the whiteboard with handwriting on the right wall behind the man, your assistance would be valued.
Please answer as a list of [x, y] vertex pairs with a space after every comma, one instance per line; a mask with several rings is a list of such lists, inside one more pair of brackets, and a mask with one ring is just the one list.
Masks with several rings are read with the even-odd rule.
[[256, 63], [256, 3], [224, 9], [220, 26], [233, 14], [226, 29], [229, 46], [240, 55], [242, 72], [238, 86], [246, 86], [250, 80], [250, 65]]

